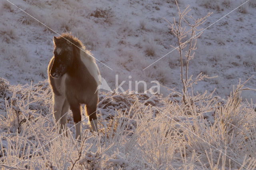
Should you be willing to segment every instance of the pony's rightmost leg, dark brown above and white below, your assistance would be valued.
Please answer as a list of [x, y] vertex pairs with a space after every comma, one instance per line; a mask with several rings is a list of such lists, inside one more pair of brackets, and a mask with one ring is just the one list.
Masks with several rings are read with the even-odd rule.
[[97, 115], [96, 115], [97, 104], [86, 105], [87, 115], [92, 126], [92, 130], [98, 132]]

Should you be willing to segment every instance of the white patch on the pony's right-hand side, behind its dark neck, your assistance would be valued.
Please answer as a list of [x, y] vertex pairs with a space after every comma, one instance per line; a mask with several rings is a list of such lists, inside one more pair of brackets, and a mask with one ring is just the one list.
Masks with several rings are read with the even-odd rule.
[[95, 79], [97, 86], [100, 85], [100, 71], [95, 62], [95, 59], [82, 50], [80, 50], [80, 58], [85, 67], [88, 69], [89, 73]]

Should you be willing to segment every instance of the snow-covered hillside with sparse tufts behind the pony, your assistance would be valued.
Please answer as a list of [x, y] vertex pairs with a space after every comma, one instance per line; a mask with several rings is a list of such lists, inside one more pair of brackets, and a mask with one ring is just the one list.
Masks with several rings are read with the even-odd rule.
[[[201, 28], [207, 28], [243, 1], [179, 1], [180, 8], [188, 4], [194, 18], [213, 14]], [[177, 45], [168, 23], [178, 17], [173, 0], [165, 1], [22, 1], [13, 2], [22, 10], [61, 34], [72, 32], [91, 50], [102, 77], [111, 89], [126, 81], [146, 81], [148, 88], [157, 80], [170, 88], [180, 89], [180, 66], [175, 50], [150, 67], [151, 63], [172, 51]], [[238, 79], [246, 80], [256, 73], [255, 28], [256, 2], [250, 0], [204, 30], [198, 39], [196, 54], [190, 62], [190, 74], [203, 72], [218, 78], [202, 82], [197, 90], [216, 88], [216, 94], [226, 97]], [[0, 77], [11, 84], [38, 83], [47, 78], [46, 68], [53, 52], [52, 32], [6, 0], [1, 1]], [[143, 71], [144, 68], [148, 67]], [[132, 76], [131, 79], [128, 76]], [[255, 87], [256, 77], [248, 82]], [[142, 90], [139, 88], [139, 90]], [[164, 89], [162, 93], [166, 93]], [[248, 94], [255, 100], [254, 95]]]

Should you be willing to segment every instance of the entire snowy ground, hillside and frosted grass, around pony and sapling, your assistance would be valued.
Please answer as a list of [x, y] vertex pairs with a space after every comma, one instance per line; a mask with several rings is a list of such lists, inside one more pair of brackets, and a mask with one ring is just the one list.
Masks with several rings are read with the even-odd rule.
[[[179, 53], [170, 46], [177, 38], [166, 22], [178, 19], [174, 0], [0, 0], [0, 167], [255, 169], [256, 91], [241, 89], [256, 89], [256, 76], [242, 85], [256, 75], [256, 0], [178, 4], [190, 5], [194, 18], [213, 12], [199, 26], [207, 29], [188, 73], [218, 75], [189, 87], [185, 103]], [[46, 70], [52, 38], [62, 32], [90, 50], [110, 89], [124, 82], [126, 91], [100, 93], [99, 136], [83, 111], [80, 143], [72, 112], [68, 137], [58, 135], [52, 115]], [[152, 81], [160, 94], [150, 93]]]

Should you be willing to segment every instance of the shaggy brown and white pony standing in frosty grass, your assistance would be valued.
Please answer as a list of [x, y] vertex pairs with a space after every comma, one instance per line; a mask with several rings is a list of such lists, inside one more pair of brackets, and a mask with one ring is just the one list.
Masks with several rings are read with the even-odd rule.
[[81, 104], [85, 104], [92, 130], [98, 132], [96, 108], [100, 71], [94, 57], [71, 33], [54, 36], [53, 42], [54, 56], [48, 65], [48, 78], [53, 92], [53, 115], [56, 123], [60, 120], [63, 130], [70, 107], [76, 138], [79, 136], [81, 139]]

